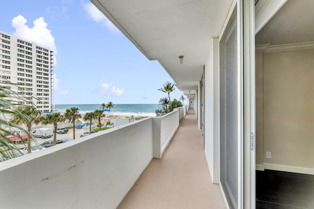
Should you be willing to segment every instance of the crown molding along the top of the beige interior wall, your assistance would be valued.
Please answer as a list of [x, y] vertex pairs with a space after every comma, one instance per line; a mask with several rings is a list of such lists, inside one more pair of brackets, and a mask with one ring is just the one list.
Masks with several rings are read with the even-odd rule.
[[302, 43], [293, 43], [293, 44], [281, 44], [281, 45], [270, 45], [262, 44], [255, 46], [255, 52], [283, 52], [283, 51], [292, 51], [292, 50], [306, 50], [314, 49], [314, 41], [311, 42], [302, 42]]

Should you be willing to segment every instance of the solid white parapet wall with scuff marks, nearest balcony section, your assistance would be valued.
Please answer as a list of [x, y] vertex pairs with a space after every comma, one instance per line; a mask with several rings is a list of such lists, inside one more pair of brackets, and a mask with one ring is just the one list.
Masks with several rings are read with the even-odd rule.
[[[176, 121], [162, 120], [162, 127]], [[116, 208], [153, 157], [152, 123], [142, 119], [1, 162], [0, 208]]]

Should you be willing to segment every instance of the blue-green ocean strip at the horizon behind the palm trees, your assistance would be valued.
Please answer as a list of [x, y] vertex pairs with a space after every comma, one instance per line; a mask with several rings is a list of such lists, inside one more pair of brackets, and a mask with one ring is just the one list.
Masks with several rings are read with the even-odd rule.
[[[100, 104], [55, 104], [58, 110], [65, 110], [71, 107], [78, 107], [79, 113], [84, 114], [96, 109], [102, 109]], [[105, 108], [108, 109], [108, 108]], [[114, 104], [109, 111], [104, 111], [107, 115], [133, 115], [136, 116], [156, 116], [155, 111], [161, 109], [159, 104]]]

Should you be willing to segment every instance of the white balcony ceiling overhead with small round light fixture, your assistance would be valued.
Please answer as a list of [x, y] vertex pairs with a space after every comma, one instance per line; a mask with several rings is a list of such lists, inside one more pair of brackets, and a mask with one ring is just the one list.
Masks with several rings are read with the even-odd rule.
[[[232, 0], [91, 0], [150, 60], [157, 59], [185, 95], [196, 93], [211, 37]], [[179, 56], [184, 56], [183, 64]], [[194, 96], [193, 95], [193, 96]]]

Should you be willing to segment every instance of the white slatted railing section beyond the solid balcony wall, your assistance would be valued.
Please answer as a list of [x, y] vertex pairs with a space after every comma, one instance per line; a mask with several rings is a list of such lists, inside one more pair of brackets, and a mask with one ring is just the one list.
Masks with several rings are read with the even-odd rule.
[[179, 127], [179, 110], [153, 118], [153, 157], [161, 158]]

